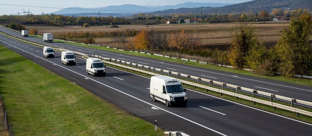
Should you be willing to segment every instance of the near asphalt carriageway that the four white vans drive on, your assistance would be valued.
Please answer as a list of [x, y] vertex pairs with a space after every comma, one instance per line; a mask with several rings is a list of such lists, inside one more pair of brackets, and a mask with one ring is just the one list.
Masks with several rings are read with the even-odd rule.
[[[312, 125], [261, 111], [204, 93], [187, 90], [186, 107], [166, 107], [149, 96], [149, 78], [107, 66], [105, 77], [87, 75], [85, 60], [76, 66], [61, 64], [61, 54], [44, 58], [43, 49], [0, 34], [0, 44], [73, 81], [118, 107], [168, 131], [188, 135], [310, 135]], [[52, 43], [54, 44], [54, 43]], [[36, 71], [34, 71], [36, 72]], [[40, 81], [38, 81], [40, 82]], [[295, 113], [294, 113], [295, 114]]]

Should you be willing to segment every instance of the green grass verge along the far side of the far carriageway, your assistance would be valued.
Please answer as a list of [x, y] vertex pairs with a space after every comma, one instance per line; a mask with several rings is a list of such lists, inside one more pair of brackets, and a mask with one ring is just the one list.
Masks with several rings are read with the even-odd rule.
[[[40, 36], [33, 36], [33, 37], [42, 38]], [[183, 64], [183, 60], [181, 60], [181, 59], [172, 59], [172, 58], [160, 57], [160, 56], [155, 56], [155, 55], [148, 55], [148, 54], [137, 53], [137, 52], [129, 52], [129, 51], [124, 52], [124, 51], [116, 50], [114, 48], [107, 48], [105, 46], [89, 46], [89, 45], [85, 45], [85, 44], [70, 43], [70, 42], [65, 42], [65, 41], [61, 41], [61, 40], [54, 40], [54, 41], [60, 42], [60, 43], [71, 44], [71, 45], [75, 45], [75, 46], [90, 47], [90, 48], [101, 49], [101, 50], [105, 50], [105, 51], [119, 52], [119, 53], [134, 55], [134, 56], [148, 57], [148, 58], [152, 58], [152, 59]], [[247, 71], [247, 70], [233, 69], [233, 68], [222, 67], [222, 66], [217, 66], [217, 65], [213, 65], [213, 64], [201, 64], [201, 63], [192, 62], [192, 61], [185, 61], [184, 64], [190, 65], [190, 66], [198, 66], [198, 67], [202, 67], [202, 68], [226, 71], [226, 72], [231, 72], [231, 73], [237, 73], [237, 74], [242, 74], [242, 75], [260, 77], [260, 78], [265, 78], [265, 79], [283, 81], [283, 82], [288, 82], [288, 83], [312, 86], [312, 80], [311, 79], [289, 78], [289, 77], [285, 77], [282, 75], [276, 75], [276, 76], [257, 75], [257, 74], [253, 74], [252, 72]]]

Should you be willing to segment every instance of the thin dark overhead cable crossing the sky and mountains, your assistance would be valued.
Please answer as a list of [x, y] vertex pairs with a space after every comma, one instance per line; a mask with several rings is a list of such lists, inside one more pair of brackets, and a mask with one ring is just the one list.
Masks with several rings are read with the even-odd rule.
[[40, 7], [40, 8], [54, 8], [54, 9], [74, 9], [74, 10], [93, 10], [93, 11], [131, 11], [131, 12], [192, 12], [192, 11], [132, 11], [132, 10], [104, 10], [104, 9], [79, 9], [79, 8], [62, 8], [62, 7], [41, 7], [41, 6], [26, 6], [26, 5], [10, 5], [0, 4], [5, 6], [19, 6], [19, 7]]

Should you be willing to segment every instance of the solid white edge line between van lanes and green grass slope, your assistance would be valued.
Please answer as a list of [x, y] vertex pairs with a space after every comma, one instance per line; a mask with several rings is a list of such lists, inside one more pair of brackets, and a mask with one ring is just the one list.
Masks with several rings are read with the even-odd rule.
[[[1, 40], [0, 40], [0, 41], [1, 41]], [[3, 42], [3, 41], [2, 41], [2, 42]], [[3, 42], [3, 43], [5, 43], [5, 42]], [[8, 43], [6, 43], [6, 44], [8, 44]], [[10, 44], [8, 44], [8, 45], [10, 45]], [[15, 47], [15, 46], [13, 46], [13, 45], [10, 45], [10, 46]], [[18, 49], [19, 49], [19, 50], [22, 50], [22, 49], [20, 49], [20, 48], [18, 48]], [[22, 50], [22, 51], [24, 51], [24, 50]], [[24, 52], [27, 52], [27, 51], [24, 51]], [[32, 54], [32, 53], [30, 53], [30, 52], [27, 52], [27, 53]], [[32, 55], [34, 55], [34, 54], [32, 54]], [[34, 56], [37, 56], [37, 55], [34, 55]], [[39, 57], [39, 56], [38, 56], [38, 57]], [[39, 57], [39, 58], [41, 58], [41, 57]], [[46, 59], [44, 59], [44, 58], [41, 58], [41, 59], [43, 59], [43, 60], [45, 60], [45, 61], [48, 61], [48, 60], [46, 60]], [[48, 61], [48, 62], [50, 62], [50, 63], [52, 63], [52, 64], [55, 64], [56, 66], [60, 66], [60, 65], [58, 65], [58, 64], [56, 64], [56, 63], [53, 63], [53, 62], [51, 62], [51, 61]], [[63, 66], [60, 66], [60, 67], [66, 69], [66, 70], [69, 70], [69, 71], [71, 71], [71, 72], [74, 72], [74, 73], [76, 73], [76, 74], [78, 74], [78, 75], [81, 75], [81, 74], [79, 74], [79, 73], [77, 73], [77, 72], [75, 72], [75, 71], [73, 71], [73, 70], [67, 69], [67, 68], [65, 68], [65, 67], [63, 67]], [[88, 77], [86, 77], [85, 75], [81, 75], [81, 76], [83, 76], [83, 77], [85, 77], [85, 78], [88, 78]], [[89, 79], [91, 79], [91, 78], [89, 78]], [[102, 84], [102, 85], [104, 85], [104, 86], [106, 86], [106, 87], [109, 87], [109, 88], [111, 88], [111, 89], [114, 89], [114, 90], [116, 90], [116, 91], [118, 91], [118, 92], [120, 92], [120, 93], [123, 93], [123, 94], [125, 94], [125, 95], [130, 96], [130, 97], [133, 97], [134, 99], [137, 99], [137, 100], [139, 100], [139, 101], [141, 101], [141, 102], [144, 102], [144, 103], [149, 104], [149, 105], [151, 105], [151, 106], [154, 106], [154, 107], [156, 107], [156, 108], [158, 108], [158, 109], [161, 109], [161, 110], [163, 110], [163, 111], [166, 111], [166, 112], [168, 112], [168, 113], [170, 113], [170, 114], [172, 114], [172, 115], [174, 115], [174, 116], [178, 116], [178, 117], [180, 117], [180, 118], [182, 118], [182, 119], [184, 119], [184, 120], [187, 120], [187, 121], [189, 121], [189, 122], [192, 122], [192, 123], [194, 123], [194, 124], [196, 124], [196, 125], [199, 125], [199, 126], [201, 126], [201, 127], [203, 127], [203, 128], [209, 129], [209, 130], [211, 130], [211, 131], [213, 131], [213, 132], [216, 132], [216, 133], [218, 133], [218, 134], [221, 134], [221, 135], [223, 135], [223, 136], [227, 136], [227, 135], [225, 135], [225, 134], [222, 134], [221, 132], [218, 132], [218, 131], [216, 131], [216, 130], [213, 130], [213, 129], [211, 129], [211, 128], [208, 128], [208, 127], [206, 127], [206, 126], [204, 126], [204, 125], [201, 125], [201, 124], [196, 123], [196, 122], [194, 122], [194, 121], [192, 121], [192, 120], [189, 120], [189, 119], [187, 119], [187, 118], [184, 118], [184, 117], [182, 117], [182, 116], [180, 116], [180, 115], [177, 115], [177, 114], [175, 114], [175, 113], [173, 113], [173, 112], [170, 112], [170, 111], [167, 111], [167, 110], [165, 110], [165, 109], [163, 109], [163, 108], [160, 108], [160, 107], [158, 107], [158, 106], [155, 106], [155, 105], [153, 105], [153, 104], [151, 104], [151, 103], [149, 103], [149, 102], [145, 102], [145, 101], [143, 101], [143, 100], [141, 100], [141, 99], [139, 99], [139, 98], [137, 98], [137, 97], [134, 97], [134, 96], [132, 96], [132, 95], [130, 95], [130, 94], [128, 94], [128, 93], [124, 93], [124, 92], [122, 92], [122, 91], [120, 91], [120, 90], [118, 90], [118, 89], [116, 89], [116, 88], [110, 87], [110, 86], [108, 86], [108, 85], [106, 85], [106, 84], [103, 84], [103, 83], [101, 83], [101, 82], [99, 82], [99, 81], [96, 81], [95, 79], [91, 79], [91, 80], [93, 80], [93, 81], [95, 81], [95, 82], [97, 82], [97, 83], [99, 83], [99, 84]]]

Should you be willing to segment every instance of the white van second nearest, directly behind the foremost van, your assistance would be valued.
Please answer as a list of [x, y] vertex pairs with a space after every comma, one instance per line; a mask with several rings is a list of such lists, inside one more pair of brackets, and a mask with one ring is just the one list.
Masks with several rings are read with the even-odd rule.
[[87, 70], [88, 75], [92, 74], [92, 76], [95, 75], [106, 75], [105, 65], [103, 64], [103, 61], [98, 58], [88, 58], [85, 69]]

